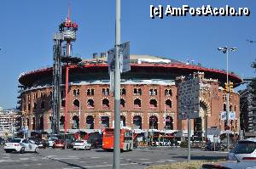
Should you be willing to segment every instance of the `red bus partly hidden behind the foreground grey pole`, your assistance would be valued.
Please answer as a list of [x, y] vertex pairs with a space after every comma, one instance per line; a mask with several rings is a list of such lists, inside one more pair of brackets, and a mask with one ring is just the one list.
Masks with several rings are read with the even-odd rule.
[[[120, 129], [120, 149], [129, 151], [133, 149], [131, 129]], [[102, 138], [102, 149], [113, 149], [113, 128], [105, 128]]]

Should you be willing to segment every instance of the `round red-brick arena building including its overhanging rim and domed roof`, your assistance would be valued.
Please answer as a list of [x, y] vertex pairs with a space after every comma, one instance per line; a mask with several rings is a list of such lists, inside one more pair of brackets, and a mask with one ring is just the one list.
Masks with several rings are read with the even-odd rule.
[[[83, 66], [69, 69], [67, 132], [93, 132], [113, 126], [113, 93], [109, 88], [106, 57], [84, 60]], [[23, 73], [19, 82], [20, 110], [24, 125], [30, 131], [50, 132], [52, 68]], [[63, 71], [64, 67], [63, 67]], [[192, 121], [194, 132], [218, 127], [224, 131], [221, 112], [226, 110], [226, 71], [191, 65], [173, 59], [149, 55], [131, 55], [131, 71], [121, 75], [120, 117], [125, 127], [135, 131], [150, 129], [166, 132], [186, 131], [187, 121], [177, 119], [177, 83], [182, 76], [201, 78], [200, 118]], [[241, 78], [233, 73], [230, 81]], [[60, 128], [64, 131], [65, 75], [62, 75]], [[230, 93], [230, 110], [236, 119], [230, 121], [233, 132], [239, 130], [239, 94]]]

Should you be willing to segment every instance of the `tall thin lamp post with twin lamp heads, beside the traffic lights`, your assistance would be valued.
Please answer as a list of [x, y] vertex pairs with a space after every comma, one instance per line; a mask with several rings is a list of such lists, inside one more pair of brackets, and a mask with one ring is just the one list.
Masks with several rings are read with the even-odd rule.
[[[229, 51], [236, 51], [236, 48], [229, 48], [228, 46], [224, 48], [218, 48], [219, 51], [222, 51], [223, 54], [226, 54], [227, 56], [227, 85], [228, 85], [228, 91], [227, 91], [227, 126], [230, 127], [230, 82], [229, 82]], [[227, 133], [227, 151], [230, 152], [230, 129]]]

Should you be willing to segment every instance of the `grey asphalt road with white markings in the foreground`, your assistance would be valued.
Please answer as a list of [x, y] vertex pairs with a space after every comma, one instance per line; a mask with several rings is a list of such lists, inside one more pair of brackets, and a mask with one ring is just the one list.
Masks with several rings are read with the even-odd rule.
[[[225, 152], [203, 151], [191, 149], [191, 160], [223, 159]], [[120, 155], [120, 168], [145, 168], [177, 161], [186, 161], [187, 149], [181, 148], [145, 148], [123, 152]], [[73, 150], [73, 149], [40, 149], [38, 154], [26, 153], [6, 154], [0, 148], [0, 168], [4, 169], [85, 169], [112, 168], [113, 152], [102, 149]]]

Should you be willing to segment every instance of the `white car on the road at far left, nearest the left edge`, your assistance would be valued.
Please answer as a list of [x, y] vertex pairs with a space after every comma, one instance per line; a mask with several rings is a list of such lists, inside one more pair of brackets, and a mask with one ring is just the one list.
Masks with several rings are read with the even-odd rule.
[[10, 152], [20, 152], [20, 153], [25, 153], [25, 152], [39, 152], [39, 148], [37, 144], [33, 144], [31, 141], [28, 139], [23, 139], [23, 138], [15, 138], [11, 140], [9, 143], [6, 143], [4, 145], [4, 148], [6, 153]]

